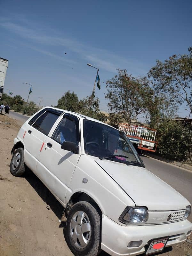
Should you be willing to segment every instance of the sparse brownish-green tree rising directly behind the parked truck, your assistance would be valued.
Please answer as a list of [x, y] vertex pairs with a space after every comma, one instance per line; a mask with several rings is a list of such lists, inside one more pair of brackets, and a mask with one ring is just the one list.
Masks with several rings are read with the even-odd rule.
[[108, 108], [130, 124], [140, 113], [148, 110], [148, 99], [153, 97], [150, 81], [147, 77], [136, 78], [128, 75], [126, 69], [117, 69], [118, 75], [106, 82], [109, 100]]

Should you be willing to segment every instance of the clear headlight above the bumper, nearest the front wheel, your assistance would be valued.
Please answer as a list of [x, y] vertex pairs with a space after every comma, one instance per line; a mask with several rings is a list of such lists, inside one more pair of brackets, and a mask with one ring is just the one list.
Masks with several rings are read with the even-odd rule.
[[148, 220], [148, 211], [146, 207], [127, 206], [121, 216], [119, 221], [125, 224], [143, 224]]

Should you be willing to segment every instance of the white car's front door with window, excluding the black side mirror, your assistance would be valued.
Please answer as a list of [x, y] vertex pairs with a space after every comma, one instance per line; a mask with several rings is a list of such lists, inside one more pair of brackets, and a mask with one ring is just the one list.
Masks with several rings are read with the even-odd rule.
[[[62, 203], [80, 157], [80, 122], [78, 117], [64, 114], [45, 141], [37, 162], [36, 172], [44, 184]], [[79, 152], [61, 149], [64, 141], [76, 142]]]

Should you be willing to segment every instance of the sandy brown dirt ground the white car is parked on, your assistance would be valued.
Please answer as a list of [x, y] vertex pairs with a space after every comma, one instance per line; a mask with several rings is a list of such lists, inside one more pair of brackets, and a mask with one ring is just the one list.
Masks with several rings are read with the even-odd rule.
[[[31, 171], [25, 177], [14, 177], [9, 171], [20, 126], [0, 114], [0, 256], [71, 256], [63, 235], [65, 223], [59, 222], [62, 205]], [[161, 255], [192, 256], [192, 236]]]

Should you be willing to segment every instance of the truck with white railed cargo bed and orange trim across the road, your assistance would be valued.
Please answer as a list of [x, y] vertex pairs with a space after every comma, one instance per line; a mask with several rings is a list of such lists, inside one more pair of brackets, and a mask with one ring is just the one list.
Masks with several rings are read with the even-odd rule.
[[156, 130], [145, 126], [120, 123], [119, 131], [124, 132], [127, 135], [138, 153], [142, 154], [143, 150], [156, 152]]

